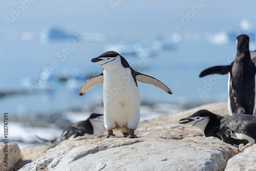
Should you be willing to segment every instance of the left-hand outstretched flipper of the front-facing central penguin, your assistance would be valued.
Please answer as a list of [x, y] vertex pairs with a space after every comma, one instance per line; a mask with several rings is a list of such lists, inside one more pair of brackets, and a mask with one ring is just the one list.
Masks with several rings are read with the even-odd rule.
[[99, 75], [95, 75], [89, 78], [86, 82], [84, 82], [79, 90], [79, 95], [82, 96], [86, 94], [94, 86], [101, 83], [103, 83], [103, 72]]

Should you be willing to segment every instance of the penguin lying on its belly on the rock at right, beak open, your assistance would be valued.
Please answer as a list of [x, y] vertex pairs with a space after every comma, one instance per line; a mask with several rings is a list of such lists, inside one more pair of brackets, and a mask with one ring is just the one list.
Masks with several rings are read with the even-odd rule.
[[222, 117], [200, 110], [179, 123], [196, 126], [205, 137], [217, 137], [231, 145], [254, 144], [256, 140], [256, 117], [247, 114]]

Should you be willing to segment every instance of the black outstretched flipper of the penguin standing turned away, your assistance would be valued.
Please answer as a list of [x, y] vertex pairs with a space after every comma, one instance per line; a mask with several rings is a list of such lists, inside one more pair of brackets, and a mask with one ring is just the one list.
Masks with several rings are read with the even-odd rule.
[[206, 75], [210, 75], [210, 74], [227, 74], [232, 68], [232, 64], [229, 66], [215, 66], [215, 67], [211, 67], [211, 68], [207, 68], [204, 71], [202, 71], [199, 75], [199, 77], [204, 77]]

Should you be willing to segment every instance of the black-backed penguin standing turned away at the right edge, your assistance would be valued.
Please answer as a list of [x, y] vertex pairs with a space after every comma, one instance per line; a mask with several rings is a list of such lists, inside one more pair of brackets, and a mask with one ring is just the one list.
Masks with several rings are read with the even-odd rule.
[[255, 72], [249, 51], [249, 37], [237, 38], [237, 55], [229, 66], [216, 66], [201, 72], [199, 77], [228, 73], [228, 111], [230, 115], [254, 115]]

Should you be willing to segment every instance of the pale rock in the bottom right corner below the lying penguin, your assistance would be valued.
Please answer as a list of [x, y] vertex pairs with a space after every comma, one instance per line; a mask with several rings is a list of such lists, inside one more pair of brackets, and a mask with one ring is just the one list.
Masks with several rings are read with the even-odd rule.
[[256, 170], [256, 144], [228, 160], [225, 171]]

